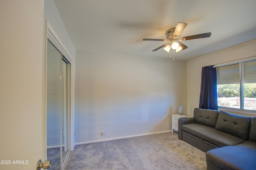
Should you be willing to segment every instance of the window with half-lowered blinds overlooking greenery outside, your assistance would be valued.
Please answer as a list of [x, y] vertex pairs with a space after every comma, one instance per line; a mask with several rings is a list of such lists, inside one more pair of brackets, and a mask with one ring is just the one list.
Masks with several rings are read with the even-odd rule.
[[256, 60], [216, 67], [218, 106], [256, 110]]

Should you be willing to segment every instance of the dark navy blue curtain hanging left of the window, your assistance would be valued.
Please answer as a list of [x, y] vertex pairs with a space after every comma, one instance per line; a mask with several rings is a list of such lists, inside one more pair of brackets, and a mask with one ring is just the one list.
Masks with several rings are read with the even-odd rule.
[[216, 68], [206, 66], [202, 68], [202, 80], [199, 108], [218, 109]]

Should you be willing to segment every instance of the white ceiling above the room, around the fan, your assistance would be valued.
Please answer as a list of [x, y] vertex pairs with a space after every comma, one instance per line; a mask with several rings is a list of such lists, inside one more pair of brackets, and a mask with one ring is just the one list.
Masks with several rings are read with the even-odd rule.
[[256, 0], [54, 0], [76, 50], [150, 58], [169, 58], [155, 48], [166, 30], [188, 25], [180, 37], [212, 32], [210, 38], [187, 40], [176, 60], [189, 60], [256, 38]]

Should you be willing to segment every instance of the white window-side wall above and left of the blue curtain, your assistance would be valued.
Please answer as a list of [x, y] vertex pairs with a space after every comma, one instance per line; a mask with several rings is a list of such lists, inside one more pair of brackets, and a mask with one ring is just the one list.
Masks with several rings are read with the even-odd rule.
[[189, 60], [187, 63], [188, 116], [192, 117], [194, 108], [198, 108], [199, 106], [202, 67], [223, 64], [253, 56], [256, 56], [256, 40]]

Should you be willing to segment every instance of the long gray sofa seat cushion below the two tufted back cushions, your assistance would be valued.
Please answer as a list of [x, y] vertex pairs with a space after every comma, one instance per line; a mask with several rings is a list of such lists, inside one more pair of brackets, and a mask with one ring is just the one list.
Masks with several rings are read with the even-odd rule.
[[193, 134], [199, 138], [202, 138], [219, 147], [237, 145], [246, 141], [232, 134], [228, 134], [217, 130], [216, 128], [212, 128], [202, 124], [183, 124], [182, 130]]

